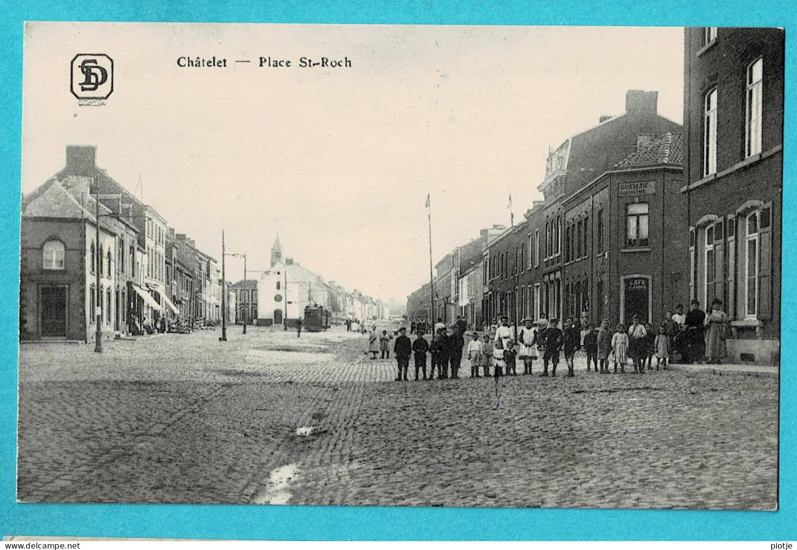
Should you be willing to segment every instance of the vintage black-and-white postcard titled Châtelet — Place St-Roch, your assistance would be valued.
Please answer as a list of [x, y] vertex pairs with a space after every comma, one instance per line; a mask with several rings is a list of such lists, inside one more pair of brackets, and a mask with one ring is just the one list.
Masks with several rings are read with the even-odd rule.
[[18, 501], [777, 509], [783, 45], [26, 23]]

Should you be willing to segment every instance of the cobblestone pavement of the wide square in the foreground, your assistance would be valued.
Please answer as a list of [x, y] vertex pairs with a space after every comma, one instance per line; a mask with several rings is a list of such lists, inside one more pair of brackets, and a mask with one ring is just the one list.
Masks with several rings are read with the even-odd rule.
[[777, 379], [580, 359], [496, 408], [493, 379], [393, 382], [364, 336], [219, 334], [23, 346], [19, 500], [777, 506]]

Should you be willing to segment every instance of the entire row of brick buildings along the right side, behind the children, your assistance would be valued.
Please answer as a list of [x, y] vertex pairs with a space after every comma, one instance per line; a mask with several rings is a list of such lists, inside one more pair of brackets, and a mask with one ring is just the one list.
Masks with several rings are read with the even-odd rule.
[[625, 112], [549, 151], [521, 222], [438, 261], [408, 316], [658, 323], [719, 299], [728, 355], [777, 363], [783, 31], [685, 29], [684, 120], [658, 115], [658, 92], [626, 92]]

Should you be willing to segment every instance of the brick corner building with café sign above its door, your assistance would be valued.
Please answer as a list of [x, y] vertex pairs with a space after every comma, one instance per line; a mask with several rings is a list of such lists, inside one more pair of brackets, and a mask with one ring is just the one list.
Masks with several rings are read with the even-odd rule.
[[658, 324], [688, 301], [682, 142], [668, 132], [563, 200], [564, 316]]

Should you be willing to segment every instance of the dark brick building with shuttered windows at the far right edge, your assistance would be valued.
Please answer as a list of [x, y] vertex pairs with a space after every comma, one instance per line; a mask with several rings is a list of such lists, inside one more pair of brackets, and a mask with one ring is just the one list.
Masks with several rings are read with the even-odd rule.
[[783, 29], [685, 29], [689, 293], [731, 317], [729, 360], [779, 363]]

